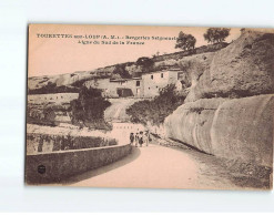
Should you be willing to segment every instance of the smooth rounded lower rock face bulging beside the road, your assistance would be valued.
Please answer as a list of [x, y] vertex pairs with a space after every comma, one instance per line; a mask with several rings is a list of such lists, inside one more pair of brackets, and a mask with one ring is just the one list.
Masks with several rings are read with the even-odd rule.
[[180, 106], [165, 134], [216, 156], [272, 166], [274, 94], [201, 99]]

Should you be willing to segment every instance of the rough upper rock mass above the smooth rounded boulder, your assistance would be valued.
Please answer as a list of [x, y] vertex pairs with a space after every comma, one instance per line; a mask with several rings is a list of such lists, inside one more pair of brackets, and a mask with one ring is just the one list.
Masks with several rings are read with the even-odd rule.
[[246, 31], [215, 52], [186, 102], [204, 97], [243, 97], [274, 93], [274, 34]]

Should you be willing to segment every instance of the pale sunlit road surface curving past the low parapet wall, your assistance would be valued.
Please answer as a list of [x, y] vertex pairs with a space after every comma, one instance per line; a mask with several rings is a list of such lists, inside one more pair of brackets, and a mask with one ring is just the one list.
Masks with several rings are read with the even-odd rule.
[[[202, 169], [201, 169], [202, 168]], [[204, 164], [180, 150], [151, 144], [123, 160], [74, 176], [67, 184], [90, 187], [241, 188], [226, 175], [203, 175]]]

